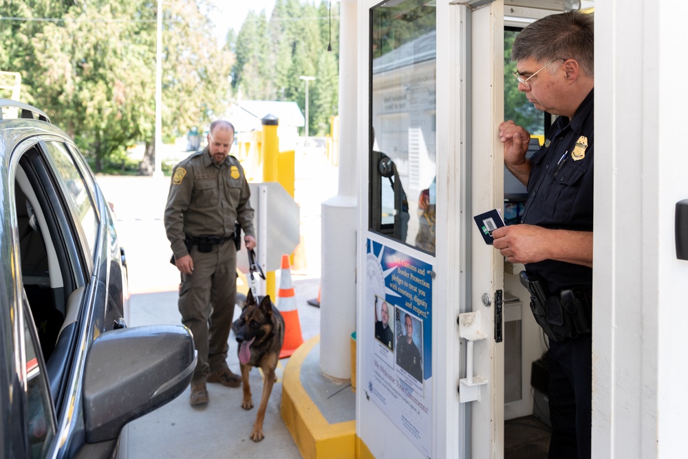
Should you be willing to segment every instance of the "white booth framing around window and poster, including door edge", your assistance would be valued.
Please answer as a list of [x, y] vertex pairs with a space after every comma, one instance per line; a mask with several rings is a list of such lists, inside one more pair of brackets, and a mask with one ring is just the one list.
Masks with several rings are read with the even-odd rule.
[[[359, 0], [360, 36], [369, 36], [369, 8], [377, 3], [379, 1]], [[437, 256], [430, 261], [436, 271], [432, 456], [501, 458], [504, 451], [504, 345], [495, 343], [494, 310], [495, 292], [503, 290], [504, 264], [503, 257], [492, 246], [486, 246], [478, 235], [472, 217], [475, 213], [502, 208], [504, 202], [502, 144], [496, 132], [504, 112], [504, 7], [502, 0], [451, 3], [449, 0], [437, 2]], [[480, 6], [476, 7], [477, 4]], [[369, 238], [368, 79], [368, 42], [361, 40], [358, 45], [357, 135], [361, 197], [357, 241], [358, 330], [363, 325], [361, 305], [366, 301], [364, 273]], [[475, 103], [476, 100], [480, 103]], [[467, 171], [472, 173], [469, 175]], [[386, 244], [397, 247], [391, 241]], [[491, 299], [489, 306], [483, 304], [484, 294]], [[476, 391], [479, 400], [460, 403], [458, 387], [460, 380], [466, 378], [468, 346], [460, 338], [457, 319], [464, 312], [480, 315], [487, 337], [473, 343], [473, 374], [484, 379], [486, 384]], [[359, 367], [360, 359], [369, 351], [359, 340]], [[358, 381], [365, 383], [361, 378]], [[422, 457], [389, 418], [366, 399], [363, 389], [360, 387], [356, 392], [356, 435], [367, 449], [376, 457]]]

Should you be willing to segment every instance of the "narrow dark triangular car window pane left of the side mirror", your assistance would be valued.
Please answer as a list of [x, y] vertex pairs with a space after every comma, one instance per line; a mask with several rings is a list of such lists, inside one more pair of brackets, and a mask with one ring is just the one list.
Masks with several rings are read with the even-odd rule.
[[26, 432], [29, 437], [32, 458], [43, 458], [55, 436], [55, 420], [52, 414], [50, 388], [43, 371], [43, 359], [36, 352], [36, 334], [28, 308], [24, 314], [24, 345], [26, 365], [26, 399], [28, 418]]

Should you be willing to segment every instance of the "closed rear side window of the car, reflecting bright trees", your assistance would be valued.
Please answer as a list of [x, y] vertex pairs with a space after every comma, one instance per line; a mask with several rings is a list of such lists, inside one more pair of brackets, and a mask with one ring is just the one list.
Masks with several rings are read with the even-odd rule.
[[98, 237], [98, 213], [92, 195], [65, 145], [58, 142], [46, 142], [45, 145], [61, 178], [60, 186], [76, 223], [83, 230], [85, 251], [93, 257]]

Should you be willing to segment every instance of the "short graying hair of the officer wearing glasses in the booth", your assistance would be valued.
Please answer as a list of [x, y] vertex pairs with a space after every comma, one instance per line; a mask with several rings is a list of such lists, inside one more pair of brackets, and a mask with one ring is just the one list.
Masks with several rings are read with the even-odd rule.
[[514, 41], [511, 60], [575, 59], [583, 74], [594, 76], [594, 18], [570, 11], [551, 14], [526, 26]]

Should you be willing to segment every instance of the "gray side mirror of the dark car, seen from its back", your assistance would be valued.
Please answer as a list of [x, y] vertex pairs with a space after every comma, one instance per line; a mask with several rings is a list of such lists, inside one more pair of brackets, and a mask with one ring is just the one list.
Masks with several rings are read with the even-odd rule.
[[118, 438], [122, 427], [182, 394], [196, 352], [182, 325], [147, 325], [100, 335], [86, 356], [86, 442]]

